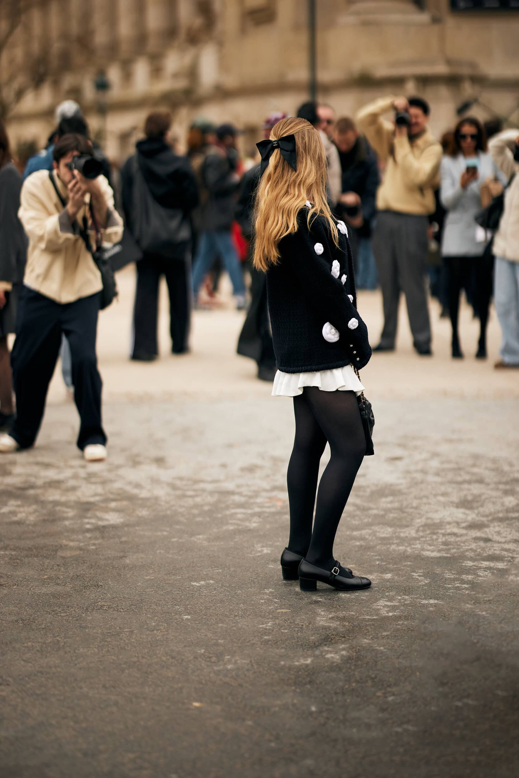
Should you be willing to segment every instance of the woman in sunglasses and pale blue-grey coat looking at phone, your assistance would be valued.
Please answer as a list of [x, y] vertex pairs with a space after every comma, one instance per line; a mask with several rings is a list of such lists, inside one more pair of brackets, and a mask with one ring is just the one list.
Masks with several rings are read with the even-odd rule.
[[441, 252], [447, 265], [452, 356], [461, 359], [458, 310], [461, 289], [472, 282], [480, 333], [477, 359], [486, 359], [486, 324], [492, 296], [493, 258], [485, 251], [486, 234], [475, 223], [481, 211], [481, 186], [488, 180], [505, 184], [503, 173], [486, 152], [485, 130], [478, 119], [467, 117], [454, 130], [451, 149], [440, 167], [440, 201], [447, 210]]

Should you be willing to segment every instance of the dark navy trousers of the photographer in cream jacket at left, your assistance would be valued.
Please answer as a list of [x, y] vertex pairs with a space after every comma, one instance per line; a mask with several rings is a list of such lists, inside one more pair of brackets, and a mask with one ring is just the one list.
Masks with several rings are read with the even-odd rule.
[[21, 448], [32, 446], [40, 429], [62, 334], [70, 344], [74, 400], [81, 419], [77, 445], [83, 450], [89, 443], [107, 442], [96, 357], [98, 314], [99, 294], [61, 305], [23, 286], [11, 354], [17, 418], [9, 433]]

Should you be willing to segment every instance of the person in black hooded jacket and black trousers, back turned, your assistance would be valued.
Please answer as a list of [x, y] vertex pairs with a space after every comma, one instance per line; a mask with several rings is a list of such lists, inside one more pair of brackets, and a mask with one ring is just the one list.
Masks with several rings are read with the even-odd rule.
[[[158, 206], [184, 212], [183, 226], [190, 223], [191, 211], [198, 205], [198, 184], [185, 156], [174, 153], [169, 143], [171, 116], [156, 111], [146, 118], [146, 138], [136, 144], [137, 153], [121, 170], [122, 204], [126, 229], [132, 233], [135, 219], [135, 184], [137, 170]], [[139, 167], [137, 167], [139, 166]], [[142, 180], [141, 178], [141, 180]], [[183, 234], [185, 230], [182, 230]], [[191, 234], [191, 230], [189, 230]], [[171, 246], [178, 251], [168, 255], [144, 254], [137, 263], [137, 288], [133, 317], [132, 359], [150, 362], [156, 359], [159, 284], [166, 276], [170, 294], [170, 334], [172, 352], [188, 352], [191, 318], [191, 241], [178, 242], [171, 236]], [[180, 257], [177, 256], [180, 251]]]

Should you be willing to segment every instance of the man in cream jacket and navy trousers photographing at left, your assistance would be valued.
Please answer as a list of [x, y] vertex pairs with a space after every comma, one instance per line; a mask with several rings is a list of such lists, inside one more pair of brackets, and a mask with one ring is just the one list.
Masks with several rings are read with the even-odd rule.
[[29, 248], [11, 358], [17, 418], [9, 435], [0, 436], [0, 453], [36, 440], [63, 333], [81, 419], [77, 445], [86, 461], [100, 461], [107, 457], [96, 358], [103, 283], [86, 244], [94, 248], [96, 233], [103, 243], [117, 243], [123, 223], [84, 136], [64, 135], [53, 159], [54, 170], [33, 173], [22, 187], [19, 219]]

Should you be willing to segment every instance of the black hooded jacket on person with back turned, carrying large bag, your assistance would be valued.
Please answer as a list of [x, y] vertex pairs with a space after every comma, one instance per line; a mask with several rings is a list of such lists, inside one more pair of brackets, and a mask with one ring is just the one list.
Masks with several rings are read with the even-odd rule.
[[[136, 146], [139, 169], [149, 191], [163, 208], [180, 209], [186, 219], [198, 205], [198, 185], [188, 157], [175, 154], [162, 138], [146, 138]], [[132, 232], [135, 156], [121, 170], [124, 220]]]

